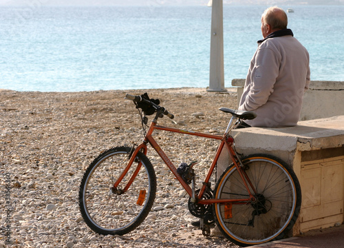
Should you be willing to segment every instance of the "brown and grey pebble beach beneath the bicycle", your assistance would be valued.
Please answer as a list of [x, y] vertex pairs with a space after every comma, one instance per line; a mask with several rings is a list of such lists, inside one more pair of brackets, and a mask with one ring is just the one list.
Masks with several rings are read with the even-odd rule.
[[[124, 97], [144, 92], [175, 115], [160, 119], [160, 125], [198, 132], [223, 133], [230, 116], [218, 109], [237, 105], [233, 88], [222, 93], [0, 90], [0, 247], [237, 247], [217, 229], [206, 238], [190, 224], [197, 218], [189, 213], [189, 196], [150, 147], [158, 188], [140, 227], [124, 236], [102, 236], [83, 221], [78, 208], [83, 173], [100, 152], [142, 142], [140, 114]], [[166, 132], [155, 138], [176, 167], [198, 161], [194, 168], [201, 185], [217, 141]]]

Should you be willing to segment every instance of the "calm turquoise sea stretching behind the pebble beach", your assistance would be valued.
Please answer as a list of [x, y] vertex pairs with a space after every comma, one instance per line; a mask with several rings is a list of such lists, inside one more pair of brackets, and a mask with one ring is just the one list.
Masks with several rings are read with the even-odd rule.
[[[344, 6], [281, 6], [312, 80], [344, 81]], [[267, 6], [224, 6], [225, 86], [244, 79]], [[75, 92], [207, 87], [211, 8], [0, 8], [0, 88]]]

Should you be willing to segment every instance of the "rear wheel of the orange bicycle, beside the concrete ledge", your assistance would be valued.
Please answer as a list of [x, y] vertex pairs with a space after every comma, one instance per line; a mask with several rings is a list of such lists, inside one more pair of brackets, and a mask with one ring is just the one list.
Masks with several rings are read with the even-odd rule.
[[[275, 156], [252, 154], [241, 161], [256, 201], [231, 205], [215, 203], [217, 226], [241, 247], [283, 238], [294, 225], [301, 208], [297, 176]], [[214, 198], [249, 198], [235, 165], [230, 165], [219, 178]]]

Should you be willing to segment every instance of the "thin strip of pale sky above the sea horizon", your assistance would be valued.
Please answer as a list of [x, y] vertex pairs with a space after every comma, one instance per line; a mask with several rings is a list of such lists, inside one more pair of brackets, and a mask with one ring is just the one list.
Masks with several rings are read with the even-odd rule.
[[[344, 0], [223, 0], [226, 3], [276, 5], [283, 3], [344, 3]], [[208, 0], [0, 0], [0, 6], [204, 6]]]

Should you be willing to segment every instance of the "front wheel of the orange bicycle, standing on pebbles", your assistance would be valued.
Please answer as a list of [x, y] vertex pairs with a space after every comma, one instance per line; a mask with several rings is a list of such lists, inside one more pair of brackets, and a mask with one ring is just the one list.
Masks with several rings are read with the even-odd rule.
[[[100, 154], [86, 169], [79, 188], [79, 207], [85, 223], [98, 234], [124, 235], [147, 217], [156, 192], [153, 165], [142, 152], [118, 189], [125, 187], [138, 163], [138, 176], [124, 194], [114, 192], [114, 182], [127, 166], [130, 147], [114, 147]], [[138, 198], [141, 194], [142, 202]]]

